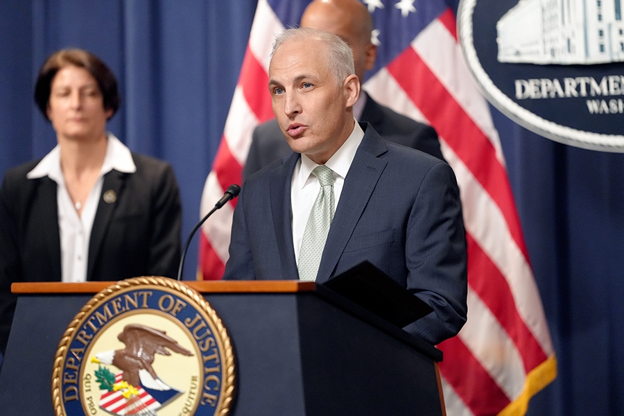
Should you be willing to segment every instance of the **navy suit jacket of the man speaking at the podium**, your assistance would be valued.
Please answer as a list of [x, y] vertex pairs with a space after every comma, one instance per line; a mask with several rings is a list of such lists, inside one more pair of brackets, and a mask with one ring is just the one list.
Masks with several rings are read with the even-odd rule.
[[[466, 320], [467, 265], [455, 174], [440, 159], [365, 135], [345, 177], [318, 271], [323, 283], [368, 260], [433, 307], [406, 330], [429, 343]], [[291, 153], [252, 175], [236, 202], [223, 279], [297, 279]]]

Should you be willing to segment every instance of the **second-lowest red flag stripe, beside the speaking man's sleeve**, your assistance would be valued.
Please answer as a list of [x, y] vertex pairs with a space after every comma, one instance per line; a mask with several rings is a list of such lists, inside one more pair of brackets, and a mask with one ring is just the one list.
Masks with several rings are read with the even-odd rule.
[[546, 361], [546, 354], [518, 314], [505, 277], [468, 233], [466, 240], [468, 284], [513, 340], [528, 373]]

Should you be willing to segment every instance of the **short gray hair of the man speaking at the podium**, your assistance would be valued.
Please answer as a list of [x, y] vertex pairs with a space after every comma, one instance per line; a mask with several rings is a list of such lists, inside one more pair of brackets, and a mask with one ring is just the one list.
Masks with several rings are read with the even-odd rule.
[[339, 36], [328, 31], [314, 28], [288, 28], [282, 32], [275, 42], [271, 51], [271, 59], [277, 48], [290, 41], [320, 40], [326, 46], [329, 69], [336, 78], [336, 84], [340, 87], [347, 76], [355, 73], [353, 52], [351, 47]]

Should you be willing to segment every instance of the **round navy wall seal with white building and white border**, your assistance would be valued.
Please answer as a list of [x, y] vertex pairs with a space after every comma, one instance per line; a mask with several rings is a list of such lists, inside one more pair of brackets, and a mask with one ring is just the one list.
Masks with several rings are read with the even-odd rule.
[[492, 105], [570, 146], [624, 153], [624, 0], [462, 0], [462, 55]]

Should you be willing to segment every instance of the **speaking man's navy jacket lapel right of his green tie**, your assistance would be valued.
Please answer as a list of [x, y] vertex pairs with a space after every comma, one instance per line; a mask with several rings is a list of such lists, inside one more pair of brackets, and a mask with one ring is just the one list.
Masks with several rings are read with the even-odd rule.
[[381, 159], [388, 148], [381, 137], [363, 126], [364, 138], [345, 177], [343, 191], [333, 216], [327, 243], [319, 266], [317, 283], [329, 280], [351, 238], [356, 225], [374, 191], [379, 177], [387, 164]]

